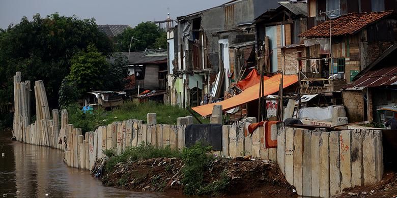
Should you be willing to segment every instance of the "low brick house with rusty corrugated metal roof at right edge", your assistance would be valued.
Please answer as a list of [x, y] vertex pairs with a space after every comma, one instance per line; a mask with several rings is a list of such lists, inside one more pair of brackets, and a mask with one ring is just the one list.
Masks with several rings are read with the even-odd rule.
[[397, 44], [393, 44], [345, 87], [342, 96], [350, 122], [381, 123], [385, 117], [380, 117], [377, 110], [397, 105], [396, 56]]

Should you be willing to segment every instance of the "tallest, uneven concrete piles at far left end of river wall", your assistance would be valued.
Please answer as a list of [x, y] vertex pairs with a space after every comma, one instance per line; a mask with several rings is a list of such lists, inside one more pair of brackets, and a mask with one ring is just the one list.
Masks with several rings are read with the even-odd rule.
[[[36, 101], [36, 121], [31, 120], [31, 82], [21, 82], [21, 73], [14, 76], [14, 121], [13, 136], [17, 141], [63, 149], [64, 130], [60, 127], [68, 123], [67, 112], [62, 111], [61, 123], [57, 109], [49, 111], [43, 81], [34, 85]], [[53, 119], [51, 119], [51, 117]]]

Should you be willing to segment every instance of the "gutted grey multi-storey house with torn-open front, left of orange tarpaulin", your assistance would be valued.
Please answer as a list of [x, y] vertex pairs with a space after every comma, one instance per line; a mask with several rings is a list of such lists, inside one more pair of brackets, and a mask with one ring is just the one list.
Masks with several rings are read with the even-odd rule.
[[193, 107], [222, 98], [241, 68], [255, 61], [253, 19], [277, 5], [273, 0], [235, 0], [177, 17], [178, 25], [167, 34], [171, 104]]

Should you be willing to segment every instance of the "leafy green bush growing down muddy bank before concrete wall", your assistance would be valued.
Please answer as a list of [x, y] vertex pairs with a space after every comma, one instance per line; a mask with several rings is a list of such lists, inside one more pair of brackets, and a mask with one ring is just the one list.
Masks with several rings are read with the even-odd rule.
[[[183, 193], [194, 195], [202, 192], [204, 186], [204, 172], [209, 163], [214, 159], [208, 153], [211, 151], [210, 146], [203, 146], [202, 143], [196, 143], [190, 148], [184, 148], [182, 151], [182, 169], [184, 184]], [[204, 190], [205, 191], [205, 190]]]

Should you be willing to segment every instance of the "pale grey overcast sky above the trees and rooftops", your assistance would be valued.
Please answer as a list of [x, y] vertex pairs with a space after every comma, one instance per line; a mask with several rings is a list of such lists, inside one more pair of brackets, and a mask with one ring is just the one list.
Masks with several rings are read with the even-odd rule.
[[194, 13], [228, 2], [228, 0], [0, 0], [0, 28], [19, 23], [23, 16], [32, 20], [58, 12], [81, 19], [95, 18], [97, 24], [127, 24], [164, 20]]

